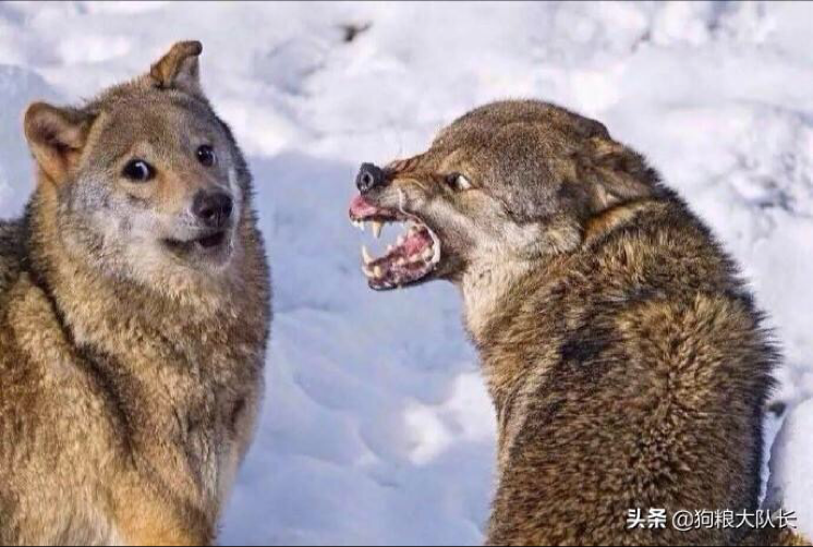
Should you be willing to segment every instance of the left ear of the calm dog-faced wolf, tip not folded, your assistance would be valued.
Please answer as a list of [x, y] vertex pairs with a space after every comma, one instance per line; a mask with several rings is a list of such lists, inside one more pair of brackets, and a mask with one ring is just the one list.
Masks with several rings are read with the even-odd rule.
[[78, 162], [93, 116], [81, 110], [35, 102], [25, 111], [28, 147], [43, 171], [61, 184]]

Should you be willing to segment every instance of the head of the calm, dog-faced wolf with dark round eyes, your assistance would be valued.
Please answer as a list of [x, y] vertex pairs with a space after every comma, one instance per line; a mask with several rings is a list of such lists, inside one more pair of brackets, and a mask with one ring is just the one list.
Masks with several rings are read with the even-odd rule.
[[204, 96], [201, 52], [177, 44], [147, 74], [81, 108], [28, 108], [40, 214], [74, 259], [151, 285], [233, 266], [250, 174]]

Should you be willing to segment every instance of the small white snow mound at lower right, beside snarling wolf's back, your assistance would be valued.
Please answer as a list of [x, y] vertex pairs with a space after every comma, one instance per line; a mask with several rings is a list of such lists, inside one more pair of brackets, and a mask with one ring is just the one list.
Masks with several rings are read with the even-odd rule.
[[786, 418], [774, 443], [767, 503], [796, 512], [798, 531], [813, 537], [813, 400]]

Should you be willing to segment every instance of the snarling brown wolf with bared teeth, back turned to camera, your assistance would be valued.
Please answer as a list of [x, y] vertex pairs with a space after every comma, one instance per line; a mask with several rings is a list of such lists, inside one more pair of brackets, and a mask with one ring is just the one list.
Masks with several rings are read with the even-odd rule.
[[757, 510], [778, 360], [735, 264], [639, 154], [597, 121], [503, 101], [356, 185], [354, 223], [406, 223], [385, 256], [364, 250], [369, 287], [462, 293], [498, 417], [489, 544], [755, 537], [629, 524]]

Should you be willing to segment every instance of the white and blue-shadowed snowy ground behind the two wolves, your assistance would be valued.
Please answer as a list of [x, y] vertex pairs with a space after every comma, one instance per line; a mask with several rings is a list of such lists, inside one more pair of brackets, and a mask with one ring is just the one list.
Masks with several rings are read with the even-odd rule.
[[[267, 404], [223, 542], [474, 544], [494, 418], [457, 294], [367, 291], [345, 221], [356, 166], [417, 151], [495, 98], [605, 121], [742, 263], [792, 408], [813, 396], [811, 21], [803, 3], [1, 3], [0, 216], [32, 189], [28, 101], [92, 96], [202, 39], [276, 276]], [[345, 42], [351, 24], [369, 28]], [[810, 405], [789, 423], [775, 463], [804, 470]], [[811, 490], [797, 484], [800, 512]]]

